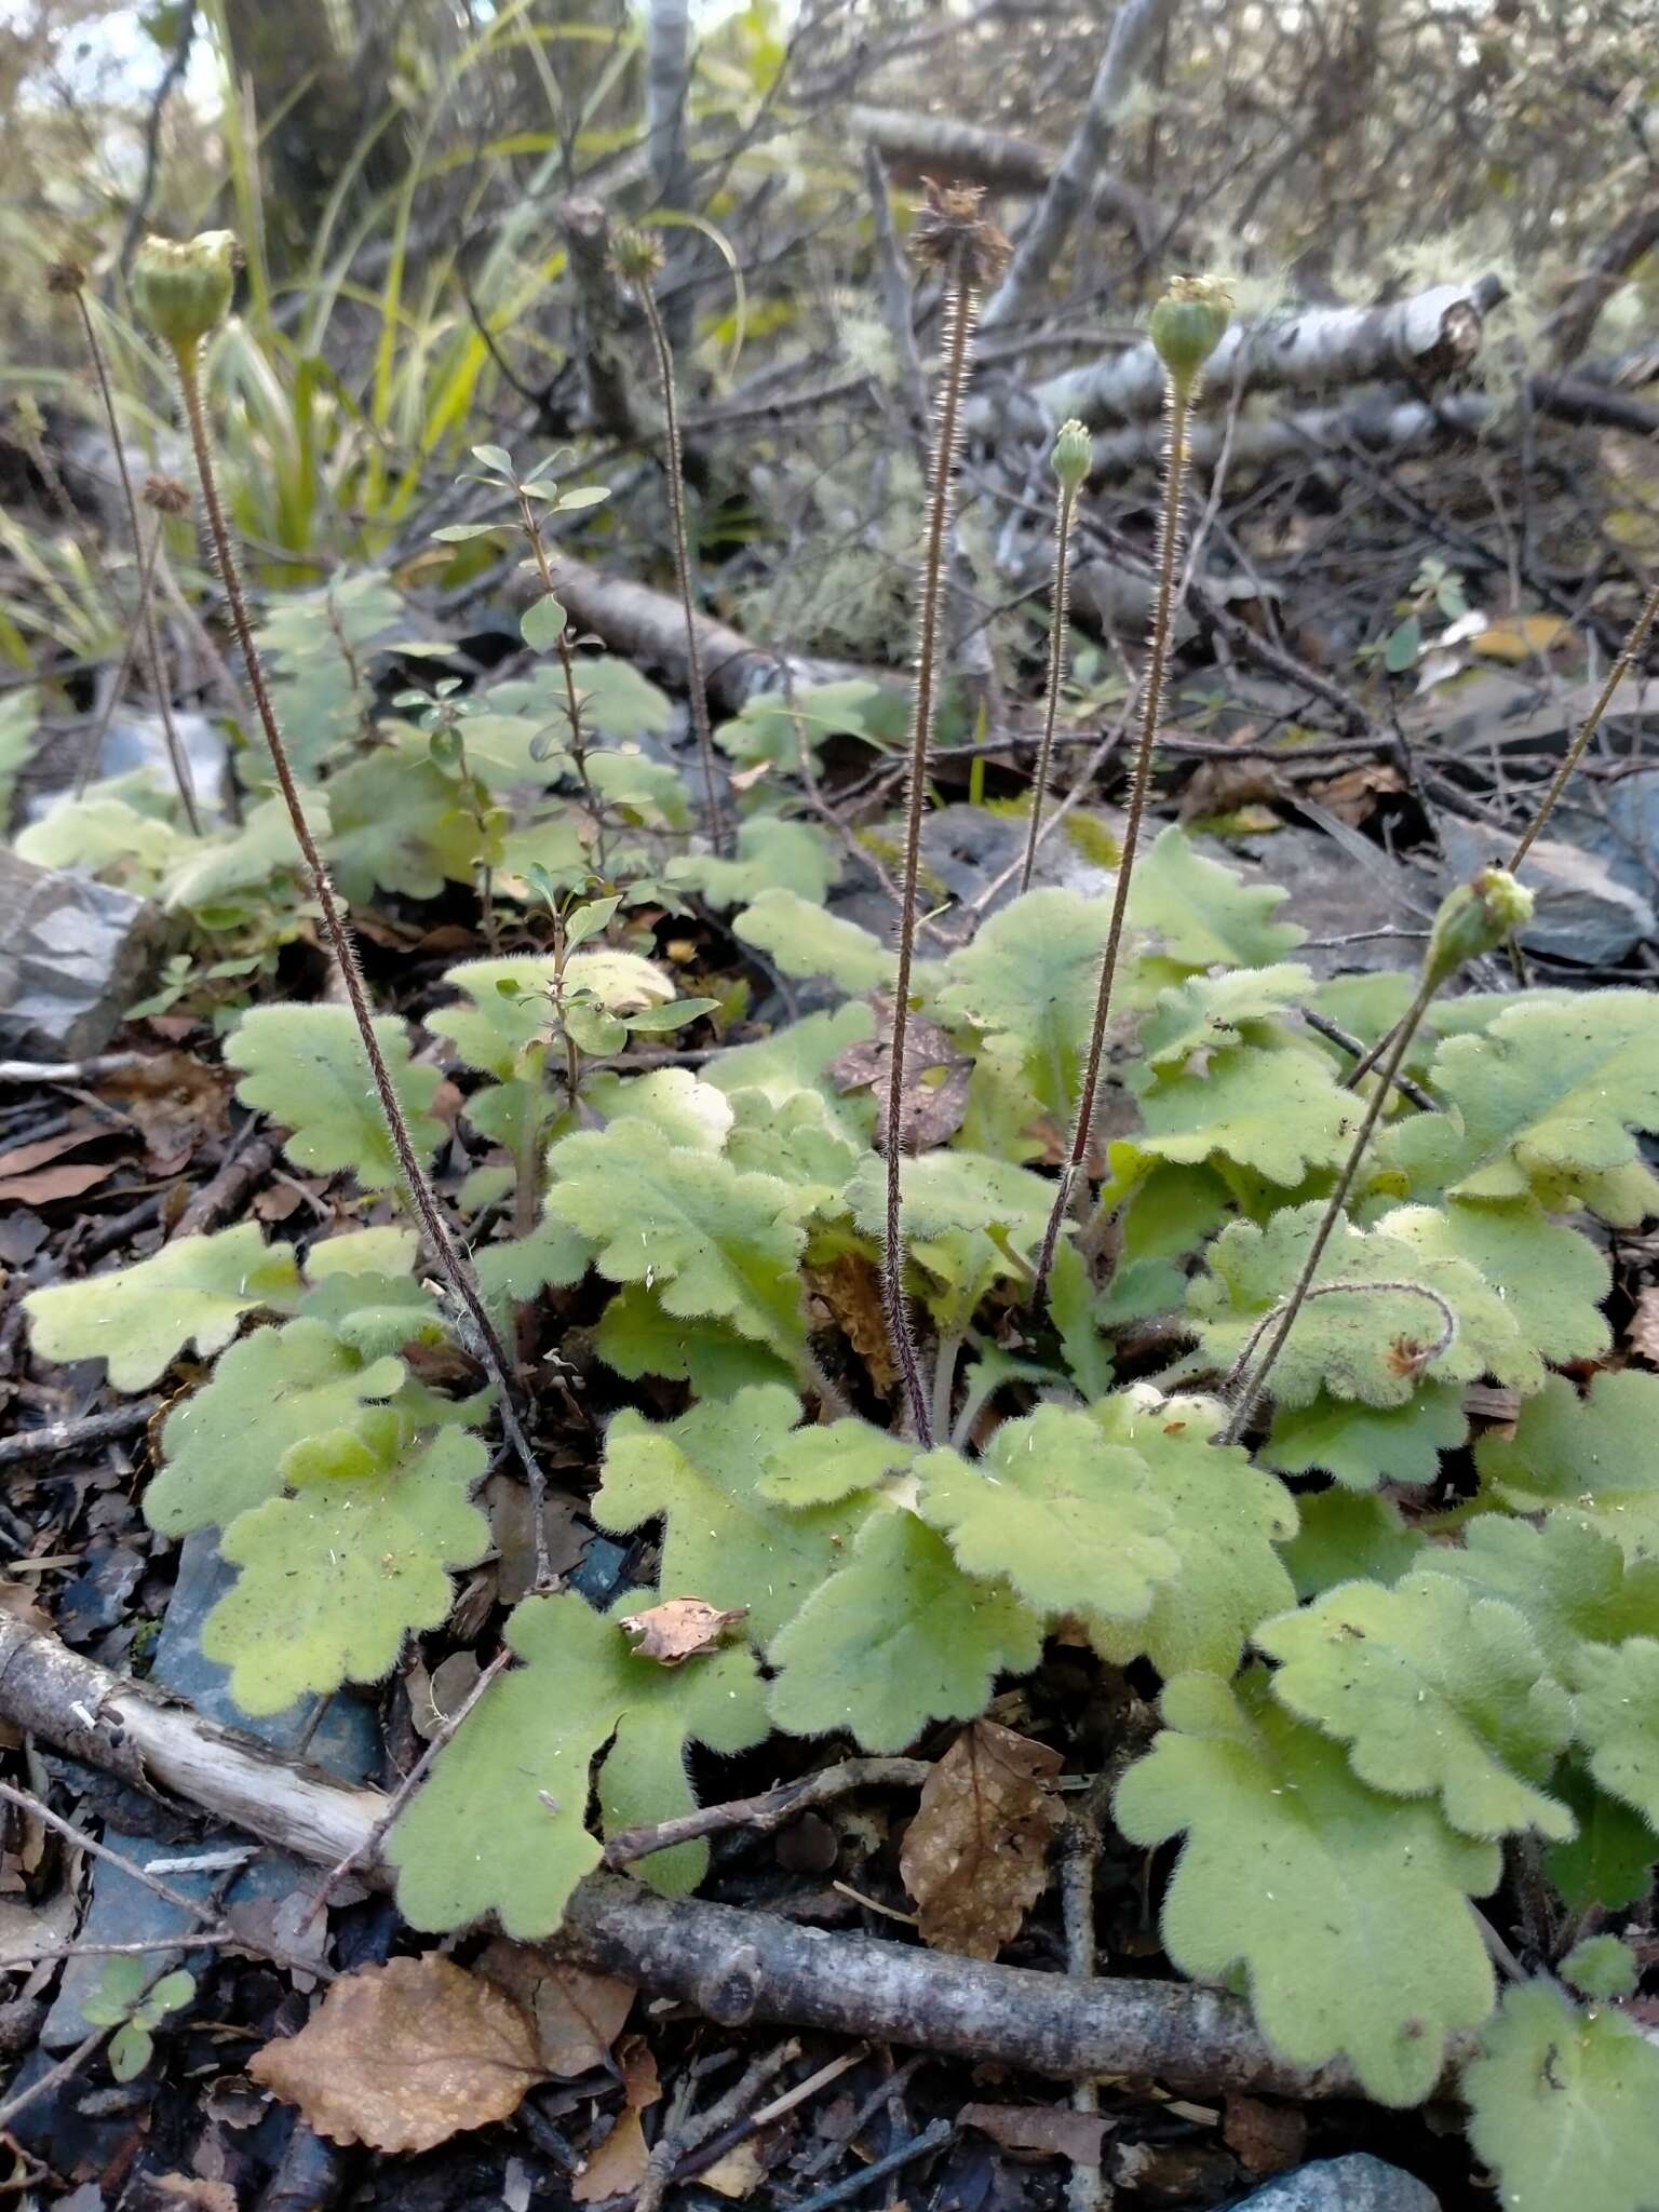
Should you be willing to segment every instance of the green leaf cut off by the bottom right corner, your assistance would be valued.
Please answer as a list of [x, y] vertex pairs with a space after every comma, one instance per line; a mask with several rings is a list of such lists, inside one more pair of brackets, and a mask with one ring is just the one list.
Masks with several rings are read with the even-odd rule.
[[1659, 2208], [1659, 2048], [1613, 2006], [1511, 1989], [1462, 2093], [1506, 2212]]

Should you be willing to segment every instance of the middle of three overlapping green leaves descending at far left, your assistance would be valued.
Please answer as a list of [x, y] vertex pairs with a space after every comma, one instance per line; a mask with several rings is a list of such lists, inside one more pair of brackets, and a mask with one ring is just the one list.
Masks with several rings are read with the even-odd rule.
[[166, 1464], [144, 1493], [144, 1517], [161, 1535], [230, 1526], [276, 1498], [294, 1444], [354, 1427], [369, 1405], [398, 1391], [403, 1374], [403, 1360], [363, 1360], [321, 1321], [254, 1329], [168, 1413]]

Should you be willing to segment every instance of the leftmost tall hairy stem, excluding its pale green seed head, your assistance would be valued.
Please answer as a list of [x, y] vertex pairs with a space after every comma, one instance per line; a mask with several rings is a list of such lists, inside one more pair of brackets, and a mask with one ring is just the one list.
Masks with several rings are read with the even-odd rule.
[[276, 770], [276, 783], [281, 785], [283, 803], [288, 805], [288, 818], [294, 825], [294, 836], [299, 838], [299, 849], [305, 858], [305, 872], [312, 878], [312, 894], [323, 914], [323, 931], [334, 951], [334, 960], [341, 969], [341, 980], [345, 982], [345, 995], [352, 1004], [352, 1018], [356, 1020], [358, 1035], [363, 1037], [363, 1051], [369, 1057], [369, 1073], [374, 1077], [374, 1088], [380, 1099], [380, 1113], [385, 1115], [387, 1130], [392, 1135], [392, 1146], [398, 1155], [398, 1168], [403, 1170], [403, 1183], [409, 1192], [420, 1225], [427, 1232], [434, 1259], [442, 1270], [445, 1281], [451, 1292], [467, 1310], [473, 1329], [478, 1332], [478, 1347], [484, 1365], [491, 1371], [491, 1380], [500, 1394], [502, 1427], [507, 1438], [518, 1453], [524, 1469], [524, 1480], [531, 1493], [531, 1520], [535, 1526], [535, 1566], [538, 1582], [549, 1579], [546, 1559], [546, 1533], [542, 1500], [546, 1495], [546, 1480], [542, 1475], [540, 1462], [531, 1451], [531, 1444], [518, 1422], [518, 1411], [513, 1407], [513, 1367], [507, 1358], [507, 1349], [495, 1334], [495, 1323], [489, 1316], [473, 1272], [460, 1254], [449, 1225], [438, 1210], [438, 1199], [427, 1181], [427, 1175], [416, 1157], [414, 1141], [409, 1137], [409, 1124], [403, 1117], [403, 1106], [398, 1104], [398, 1093], [392, 1084], [392, 1071], [385, 1064], [385, 1053], [380, 1051], [380, 1040], [374, 1033], [374, 1015], [369, 1009], [369, 989], [363, 980], [363, 964], [358, 962], [356, 945], [352, 940], [352, 929], [347, 918], [334, 896], [334, 885], [330, 880], [327, 867], [323, 865], [323, 854], [316, 849], [316, 838], [305, 821], [305, 807], [299, 796], [299, 785], [294, 783], [294, 768], [288, 759], [288, 745], [283, 743], [283, 732], [276, 726], [276, 710], [270, 701], [270, 688], [265, 684], [265, 668], [259, 659], [259, 648], [254, 646], [252, 624], [248, 619], [248, 602], [241, 591], [241, 571], [237, 568], [237, 555], [230, 544], [230, 531], [226, 526], [223, 504], [219, 500], [219, 478], [212, 465], [212, 445], [208, 438], [208, 416], [201, 405], [201, 380], [197, 376], [197, 349], [179, 349], [179, 389], [184, 394], [184, 414], [190, 427], [190, 445], [195, 449], [197, 476], [201, 480], [201, 504], [208, 513], [208, 535], [212, 538], [212, 553], [219, 564], [219, 580], [226, 591], [226, 604], [230, 606], [230, 626], [237, 633], [237, 646], [241, 648], [241, 659], [248, 670], [248, 688], [254, 695], [254, 710], [259, 714], [259, 726], [265, 734], [265, 745], [270, 748], [270, 763]]

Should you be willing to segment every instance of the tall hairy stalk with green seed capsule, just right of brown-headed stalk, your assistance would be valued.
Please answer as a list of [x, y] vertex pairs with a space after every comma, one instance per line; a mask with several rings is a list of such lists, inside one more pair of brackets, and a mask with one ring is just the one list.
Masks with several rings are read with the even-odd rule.
[[1084, 1172], [1088, 1146], [1095, 1135], [1095, 1097], [1099, 1093], [1099, 1062], [1106, 1046], [1106, 1020], [1113, 1011], [1113, 984], [1117, 980], [1117, 953], [1124, 942], [1124, 916], [1135, 880], [1135, 852], [1146, 814], [1146, 792], [1152, 781], [1152, 743], [1157, 719], [1164, 706], [1164, 677], [1170, 661], [1170, 617], [1175, 613], [1175, 566], [1181, 553], [1181, 493], [1186, 489], [1186, 431], [1192, 403], [1203, 376], [1203, 363], [1221, 345], [1232, 314], [1228, 292], [1208, 276], [1177, 276], [1170, 290], [1152, 310], [1150, 336], [1164, 363], [1164, 509], [1157, 531], [1157, 597], [1152, 602], [1152, 641], [1141, 690], [1141, 737], [1135, 752], [1135, 772], [1128, 787], [1128, 816], [1124, 821], [1124, 856], [1117, 865], [1113, 887], [1113, 914], [1106, 925], [1106, 949], [1099, 962], [1099, 991], [1095, 993], [1095, 1020], [1088, 1031], [1088, 1053], [1084, 1060], [1084, 1088], [1077, 1099], [1077, 1121], [1071, 1133], [1071, 1155], [1060, 1170], [1060, 1188], [1042, 1237], [1033, 1298], [1042, 1305], [1048, 1294], [1048, 1276], [1055, 1265], [1060, 1232], [1071, 1210], [1077, 1177]]

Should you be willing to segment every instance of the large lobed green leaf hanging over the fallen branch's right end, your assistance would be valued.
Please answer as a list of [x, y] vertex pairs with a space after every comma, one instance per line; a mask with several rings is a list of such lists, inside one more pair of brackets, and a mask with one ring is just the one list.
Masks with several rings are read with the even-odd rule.
[[1367, 1790], [1259, 1674], [1237, 1692], [1181, 1674], [1164, 1721], [1115, 1812], [1130, 1843], [1186, 1832], [1164, 1898], [1175, 1964], [1206, 1982], [1241, 1964], [1263, 2035], [1294, 2066], [1343, 2053], [1378, 2104], [1427, 2097], [1447, 2035], [1491, 2011], [1467, 1898], [1495, 1887], [1498, 1845], [1453, 1834], [1427, 1801]]

